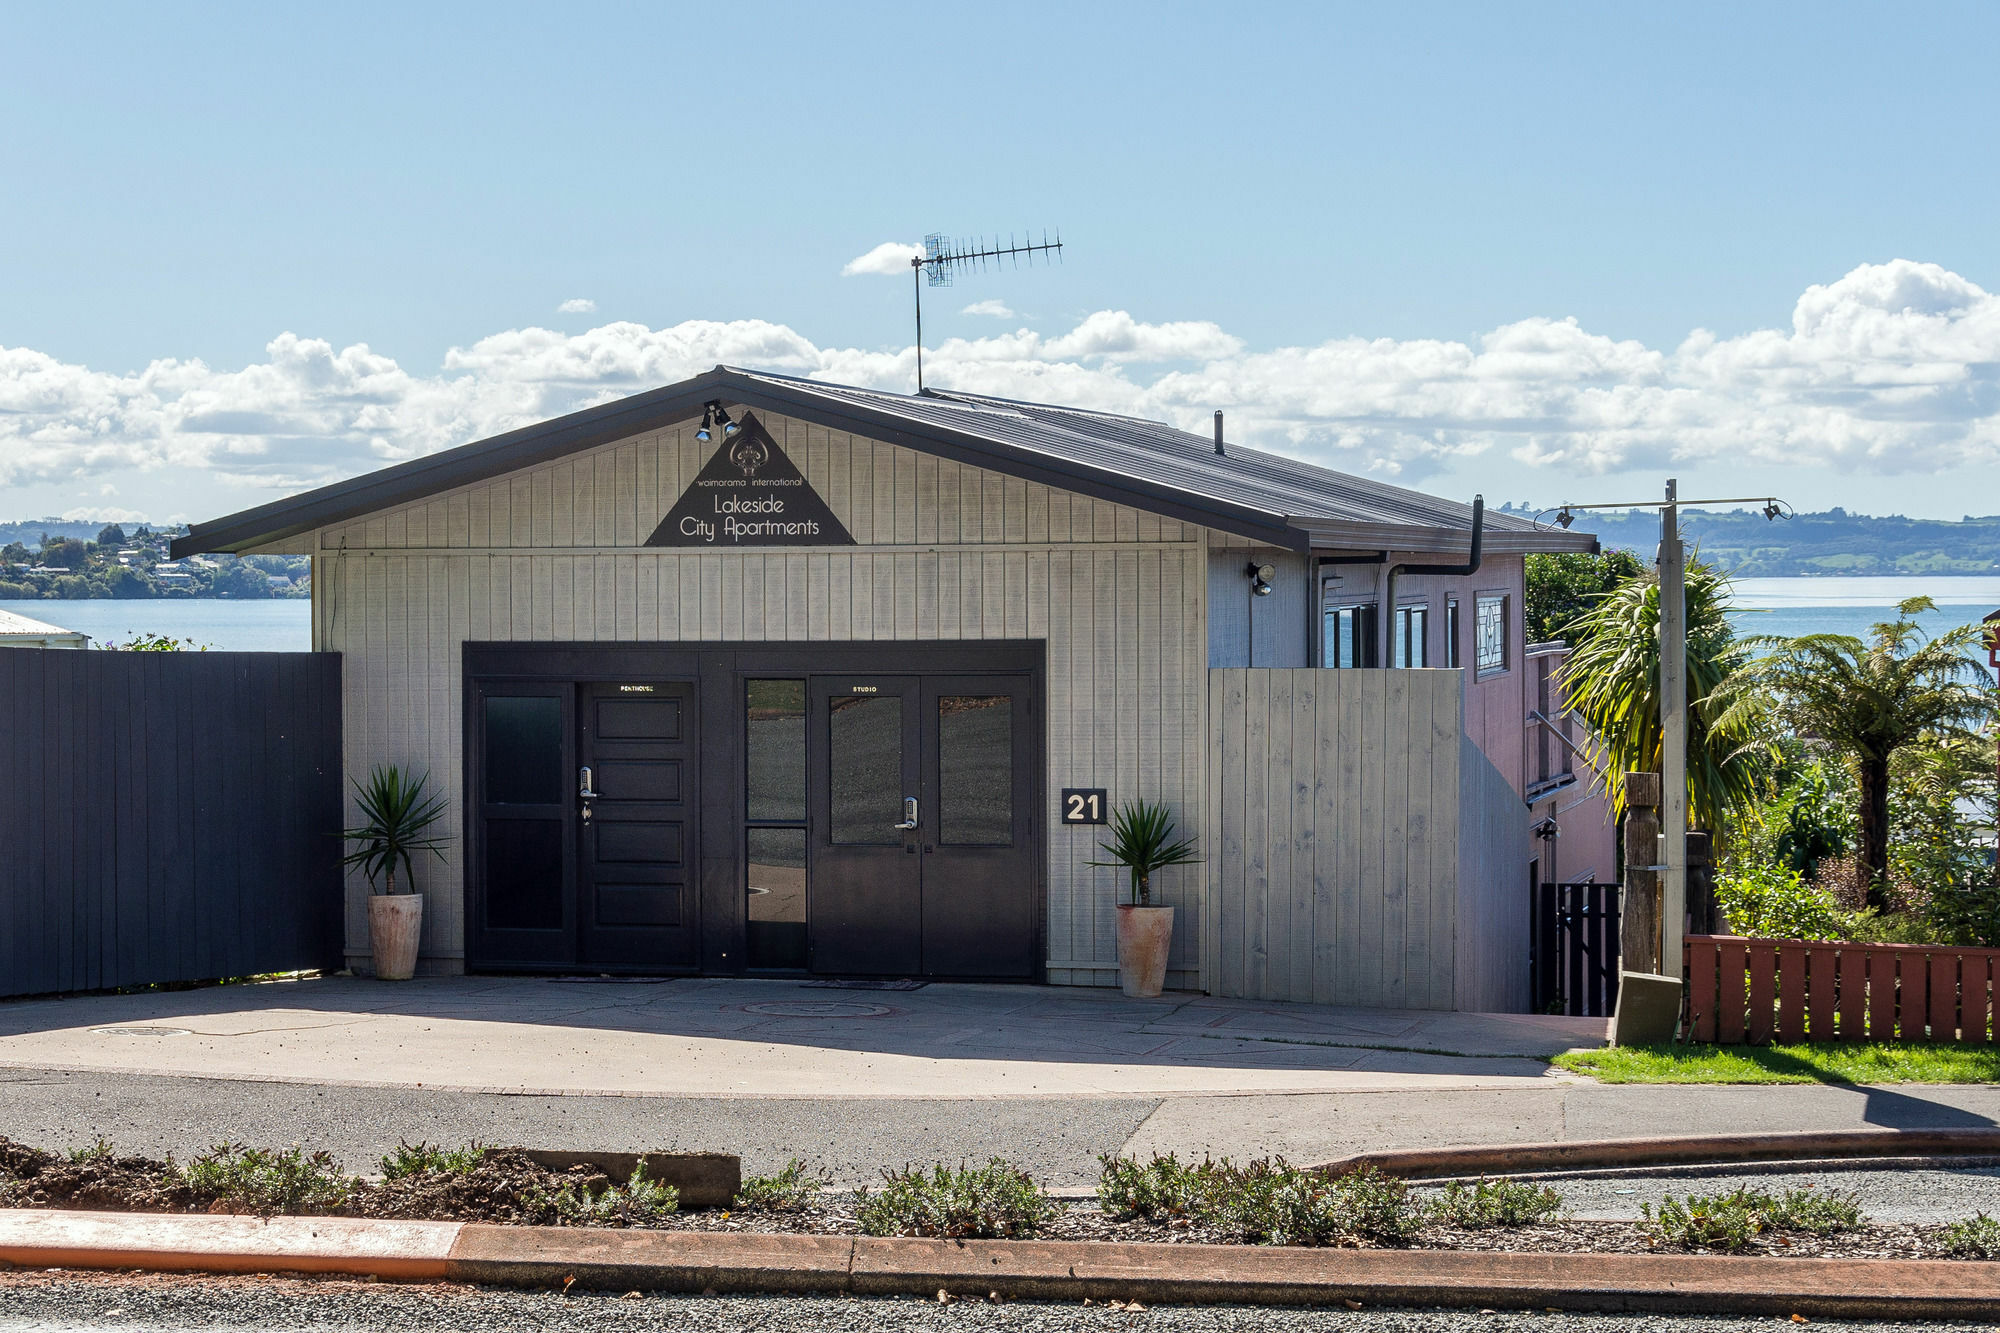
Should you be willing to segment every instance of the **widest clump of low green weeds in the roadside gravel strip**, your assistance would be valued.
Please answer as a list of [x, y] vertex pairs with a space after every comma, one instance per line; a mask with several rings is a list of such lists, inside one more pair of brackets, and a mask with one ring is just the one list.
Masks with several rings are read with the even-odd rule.
[[1098, 1203], [1112, 1215], [1152, 1221], [1188, 1217], [1260, 1245], [1334, 1245], [1346, 1239], [1394, 1245], [1424, 1227], [1424, 1209], [1410, 1187], [1372, 1167], [1326, 1177], [1282, 1157], [1242, 1167], [1228, 1159], [1198, 1167], [1174, 1157], [1100, 1161]]

